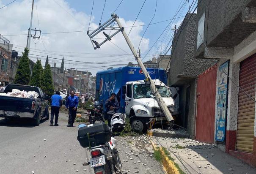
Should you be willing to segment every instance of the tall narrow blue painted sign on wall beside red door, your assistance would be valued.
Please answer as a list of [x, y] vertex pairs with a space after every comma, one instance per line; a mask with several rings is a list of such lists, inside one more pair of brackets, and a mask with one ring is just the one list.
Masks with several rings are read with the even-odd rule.
[[216, 141], [225, 141], [226, 135], [226, 116], [228, 101], [228, 66], [229, 61], [220, 65], [218, 75], [218, 96], [217, 96], [217, 122], [216, 122]]

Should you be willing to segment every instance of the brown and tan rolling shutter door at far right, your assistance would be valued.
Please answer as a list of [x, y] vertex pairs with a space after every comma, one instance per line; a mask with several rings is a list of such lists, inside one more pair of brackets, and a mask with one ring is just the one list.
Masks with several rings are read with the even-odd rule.
[[[255, 98], [256, 54], [240, 63], [239, 86]], [[240, 152], [253, 153], [255, 102], [242, 90], [238, 95], [237, 145]]]

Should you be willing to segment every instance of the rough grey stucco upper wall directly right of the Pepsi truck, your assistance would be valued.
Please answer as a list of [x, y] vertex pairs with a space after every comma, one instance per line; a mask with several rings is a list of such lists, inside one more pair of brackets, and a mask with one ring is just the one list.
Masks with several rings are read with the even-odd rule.
[[[190, 18], [190, 16], [192, 17]], [[189, 20], [190, 19], [190, 20]], [[189, 21], [188, 21], [189, 20]], [[173, 38], [172, 58], [170, 65], [169, 83], [170, 85], [180, 85], [187, 79], [196, 78], [207, 68], [215, 64], [214, 60], [195, 58], [196, 34], [195, 27], [196, 14], [188, 14], [184, 19], [186, 26], [179, 28]], [[179, 38], [179, 39], [178, 39]], [[180, 77], [180, 78], [177, 78]]]

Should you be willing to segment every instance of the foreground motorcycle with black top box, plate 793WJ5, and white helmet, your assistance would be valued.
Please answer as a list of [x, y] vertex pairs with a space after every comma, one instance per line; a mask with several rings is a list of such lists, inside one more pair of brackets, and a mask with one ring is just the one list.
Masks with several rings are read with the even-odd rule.
[[[77, 139], [82, 147], [88, 147], [91, 159], [83, 166], [91, 165], [95, 174], [127, 174], [122, 171], [122, 163], [117, 150], [117, 140], [112, 137], [112, 131], [119, 132], [125, 125], [125, 114], [114, 114], [111, 119], [111, 129], [105, 123], [78, 126]], [[123, 124], [121, 124], [121, 120]]]

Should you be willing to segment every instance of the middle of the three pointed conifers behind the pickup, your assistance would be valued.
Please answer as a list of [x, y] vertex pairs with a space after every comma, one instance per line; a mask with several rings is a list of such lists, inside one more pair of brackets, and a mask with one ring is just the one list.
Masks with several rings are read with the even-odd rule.
[[41, 60], [37, 60], [36, 64], [33, 67], [32, 76], [30, 79], [30, 85], [40, 87], [42, 89], [42, 82], [43, 82], [43, 67], [41, 65]]

